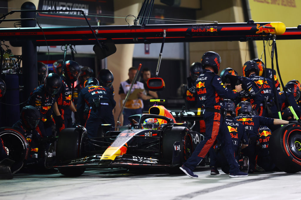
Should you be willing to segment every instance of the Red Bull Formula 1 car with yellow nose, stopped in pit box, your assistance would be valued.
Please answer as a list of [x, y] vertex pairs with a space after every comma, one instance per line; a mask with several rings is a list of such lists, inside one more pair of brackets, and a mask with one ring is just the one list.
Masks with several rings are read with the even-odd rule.
[[[56, 153], [54, 145], [49, 148], [46, 168], [58, 168], [67, 176], [81, 175], [85, 168], [119, 167], [158, 167], [177, 173], [203, 135], [190, 131], [185, 123], [176, 123], [163, 106], [152, 107], [150, 113], [157, 115], [133, 115], [126, 130], [102, 131], [97, 138], [87, 138], [85, 128], [80, 126], [64, 129], [58, 137]], [[156, 118], [160, 127], [142, 128], [148, 118]], [[106, 127], [110, 128], [105, 124], [102, 130]]]

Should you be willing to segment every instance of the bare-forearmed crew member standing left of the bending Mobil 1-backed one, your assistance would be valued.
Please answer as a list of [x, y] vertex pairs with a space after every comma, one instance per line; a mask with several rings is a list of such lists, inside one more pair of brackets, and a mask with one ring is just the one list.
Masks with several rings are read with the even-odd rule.
[[56, 115], [54, 120], [56, 122], [57, 134], [64, 128], [72, 127], [72, 112], [74, 112], [75, 120], [79, 121], [78, 113], [72, 101], [73, 84], [81, 73], [79, 64], [72, 60], [65, 61], [62, 66], [62, 72], [62, 87], [57, 99], [57, 107], [54, 107], [53, 110]]

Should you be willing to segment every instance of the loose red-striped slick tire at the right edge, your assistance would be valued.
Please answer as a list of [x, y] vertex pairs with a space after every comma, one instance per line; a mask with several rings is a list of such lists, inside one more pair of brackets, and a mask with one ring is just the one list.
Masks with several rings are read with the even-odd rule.
[[287, 124], [272, 133], [269, 153], [276, 167], [286, 173], [301, 171], [301, 127]]

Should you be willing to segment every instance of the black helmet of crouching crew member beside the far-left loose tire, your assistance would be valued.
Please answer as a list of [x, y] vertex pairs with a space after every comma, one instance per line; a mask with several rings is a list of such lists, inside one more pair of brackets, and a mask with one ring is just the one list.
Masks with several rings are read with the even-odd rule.
[[24, 106], [21, 110], [20, 117], [26, 130], [33, 130], [39, 124], [41, 113], [34, 106]]

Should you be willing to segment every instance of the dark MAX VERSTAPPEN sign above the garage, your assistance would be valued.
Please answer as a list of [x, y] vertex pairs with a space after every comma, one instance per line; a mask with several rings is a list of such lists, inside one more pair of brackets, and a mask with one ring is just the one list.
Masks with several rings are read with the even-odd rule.
[[[93, 17], [87, 16], [91, 25], [113, 23], [114, 18], [97, 16], [98, 14], [114, 14], [113, 1], [89, 1], [89, 0], [40, 0], [39, 10], [62, 10], [53, 13], [37, 13], [42, 24], [51, 25], [87, 25], [85, 18], [79, 12], [66, 12], [64, 10], [83, 10], [86, 15], [93, 13]], [[96, 14], [96, 15], [95, 15]], [[59, 20], [57, 20], [59, 19]]]

